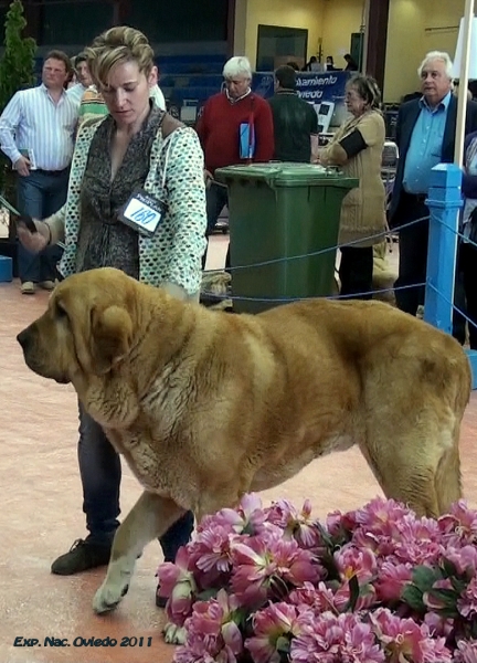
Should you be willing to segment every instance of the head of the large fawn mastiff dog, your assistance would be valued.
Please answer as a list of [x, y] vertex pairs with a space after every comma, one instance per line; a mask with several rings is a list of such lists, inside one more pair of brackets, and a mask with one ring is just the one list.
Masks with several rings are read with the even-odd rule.
[[131, 348], [137, 285], [110, 267], [63, 281], [45, 313], [17, 337], [26, 365], [63, 383], [109, 372]]

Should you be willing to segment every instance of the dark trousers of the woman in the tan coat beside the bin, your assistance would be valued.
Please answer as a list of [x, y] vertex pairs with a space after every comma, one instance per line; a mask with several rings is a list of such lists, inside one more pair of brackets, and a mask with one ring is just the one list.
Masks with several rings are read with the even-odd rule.
[[[371, 299], [373, 251], [372, 246], [341, 246], [339, 277], [342, 298]], [[368, 293], [368, 294], [367, 294]]]

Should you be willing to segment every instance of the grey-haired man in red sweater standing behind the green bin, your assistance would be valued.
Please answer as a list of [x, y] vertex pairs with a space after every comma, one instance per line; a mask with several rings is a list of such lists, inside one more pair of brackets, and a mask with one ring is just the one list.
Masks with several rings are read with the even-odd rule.
[[214, 181], [215, 169], [251, 161], [269, 161], [274, 154], [272, 110], [267, 102], [251, 90], [252, 69], [248, 60], [231, 57], [223, 69], [223, 92], [208, 99], [197, 126], [205, 157], [208, 236], [215, 228], [223, 207], [227, 204], [226, 188]]

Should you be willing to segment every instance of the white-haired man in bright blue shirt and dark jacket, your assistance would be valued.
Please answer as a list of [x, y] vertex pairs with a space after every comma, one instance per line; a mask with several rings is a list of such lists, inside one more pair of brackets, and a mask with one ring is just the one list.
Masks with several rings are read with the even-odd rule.
[[[454, 160], [457, 99], [452, 94], [452, 61], [447, 53], [427, 53], [418, 69], [422, 97], [399, 110], [396, 141], [400, 150], [390, 210], [393, 229], [411, 221], [418, 223], [399, 231], [400, 263], [395, 282], [399, 308], [415, 315], [424, 302], [427, 266], [428, 208], [425, 204], [431, 171], [437, 164]], [[468, 102], [466, 134], [477, 129], [477, 104]], [[403, 288], [403, 290], [400, 290]]]

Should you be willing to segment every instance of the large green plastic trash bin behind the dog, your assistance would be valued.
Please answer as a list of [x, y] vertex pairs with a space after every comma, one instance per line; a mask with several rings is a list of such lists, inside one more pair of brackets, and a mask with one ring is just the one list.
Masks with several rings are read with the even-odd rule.
[[288, 162], [229, 166], [215, 178], [229, 188], [234, 311], [330, 295], [341, 202], [359, 180]]

